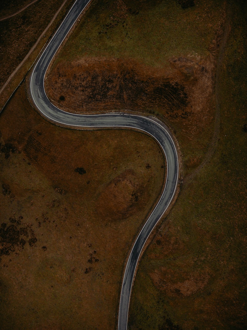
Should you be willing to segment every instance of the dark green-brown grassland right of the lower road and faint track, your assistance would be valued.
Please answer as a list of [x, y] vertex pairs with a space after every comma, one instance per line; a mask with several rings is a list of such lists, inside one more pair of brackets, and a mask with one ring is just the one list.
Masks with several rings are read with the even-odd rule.
[[130, 329], [246, 327], [246, 4], [231, 3], [220, 134], [140, 263]]

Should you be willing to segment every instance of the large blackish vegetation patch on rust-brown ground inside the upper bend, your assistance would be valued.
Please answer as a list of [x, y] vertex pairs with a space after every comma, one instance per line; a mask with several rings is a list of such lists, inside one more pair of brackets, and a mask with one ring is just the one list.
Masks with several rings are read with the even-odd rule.
[[162, 109], [171, 117], [190, 114], [185, 110], [188, 94], [183, 83], [150, 71], [150, 68], [131, 61], [104, 59], [96, 59], [86, 66], [79, 62], [69, 66], [57, 68], [57, 77], [52, 76], [50, 95], [56, 99], [58, 90], [66, 92], [63, 104], [70, 109], [145, 108]]

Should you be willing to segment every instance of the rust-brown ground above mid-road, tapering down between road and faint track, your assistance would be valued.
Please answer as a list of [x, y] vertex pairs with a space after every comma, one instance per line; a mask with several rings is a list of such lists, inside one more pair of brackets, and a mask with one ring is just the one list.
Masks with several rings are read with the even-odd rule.
[[45, 88], [61, 109], [77, 113], [127, 109], [159, 116], [174, 128], [190, 173], [204, 159], [214, 121], [215, 58], [170, 58], [154, 68], [131, 59], [89, 58], [52, 68]]

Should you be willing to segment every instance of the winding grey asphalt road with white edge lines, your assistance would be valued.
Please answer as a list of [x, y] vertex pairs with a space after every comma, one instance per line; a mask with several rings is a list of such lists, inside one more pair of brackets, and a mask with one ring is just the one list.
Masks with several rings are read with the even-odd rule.
[[167, 177], [164, 190], [151, 215], [140, 231], [129, 254], [121, 289], [118, 313], [118, 330], [126, 330], [132, 282], [142, 248], [152, 229], [170, 205], [178, 184], [178, 154], [167, 127], [155, 118], [151, 119], [128, 113], [110, 113], [102, 115], [77, 115], [67, 113], [55, 107], [46, 96], [44, 79], [47, 68], [69, 30], [90, 0], [76, 0], [63, 20], [48, 46], [39, 57], [30, 78], [30, 94], [37, 110], [47, 120], [71, 129], [123, 128], [145, 132], [152, 136], [163, 150], [167, 162]]

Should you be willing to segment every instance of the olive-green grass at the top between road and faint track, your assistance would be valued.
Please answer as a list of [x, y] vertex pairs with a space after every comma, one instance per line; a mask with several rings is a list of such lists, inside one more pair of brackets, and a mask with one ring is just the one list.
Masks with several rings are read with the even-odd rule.
[[96, 0], [58, 61], [106, 56], [162, 67], [174, 56], [207, 56], [222, 13], [223, 1], [201, 1], [182, 9], [175, 0]]

